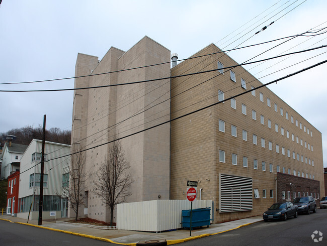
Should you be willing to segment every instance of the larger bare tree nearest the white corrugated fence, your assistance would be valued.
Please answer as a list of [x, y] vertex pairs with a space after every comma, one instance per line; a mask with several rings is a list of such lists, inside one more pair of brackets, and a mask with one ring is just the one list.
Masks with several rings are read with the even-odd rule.
[[129, 162], [125, 159], [125, 153], [117, 140], [109, 148], [105, 162], [100, 166], [99, 181], [96, 183], [96, 193], [110, 207], [110, 225], [113, 224], [115, 206], [125, 202], [126, 198], [131, 195], [128, 187], [133, 179], [128, 172], [129, 168]]

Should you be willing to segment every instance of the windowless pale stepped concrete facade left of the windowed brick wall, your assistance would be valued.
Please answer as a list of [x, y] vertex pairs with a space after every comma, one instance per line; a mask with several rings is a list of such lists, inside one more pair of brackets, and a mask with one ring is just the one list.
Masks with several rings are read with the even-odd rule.
[[[95, 193], [98, 170], [111, 146], [106, 143], [170, 119], [170, 79], [115, 85], [170, 77], [169, 61], [170, 51], [148, 37], [126, 52], [111, 47], [101, 61], [78, 54], [75, 76], [102, 74], [76, 78], [75, 88], [93, 88], [75, 90], [73, 100], [72, 146], [94, 147], [86, 152], [84, 205], [89, 217], [110, 218]], [[164, 64], [148, 66], [158, 63]], [[169, 199], [170, 125], [122, 139], [121, 146], [133, 176], [127, 201]]]

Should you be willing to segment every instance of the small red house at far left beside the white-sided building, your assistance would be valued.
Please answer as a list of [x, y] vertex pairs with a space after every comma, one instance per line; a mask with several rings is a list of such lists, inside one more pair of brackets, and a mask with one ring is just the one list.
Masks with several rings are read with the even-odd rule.
[[8, 177], [7, 214], [15, 215], [18, 211], [19, 171]]

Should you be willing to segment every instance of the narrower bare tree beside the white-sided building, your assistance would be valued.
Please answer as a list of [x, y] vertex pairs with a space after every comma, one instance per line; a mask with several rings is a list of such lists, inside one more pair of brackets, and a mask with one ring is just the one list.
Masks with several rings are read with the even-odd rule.
[[85, 199], [85, 186], [84, 182], [86, 179], [85, 173], [85, 162], [86, 154], [83, 151], [83, 147], [76, 147], [76, 144], [73, 144], [72, 151], [73, 154], [70, 157], [70, 166], [69, 166], [69, 187], [68, 192], [68, 201], [75, 212], [75, 221], [78, 217], [78, 208], [80, 205], [84, 204]]

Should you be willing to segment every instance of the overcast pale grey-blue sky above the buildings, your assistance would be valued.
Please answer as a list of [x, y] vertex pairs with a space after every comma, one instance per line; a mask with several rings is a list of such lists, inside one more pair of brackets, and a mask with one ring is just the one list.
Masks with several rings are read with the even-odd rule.
[[[78, 52], [102, 59], [111, 46], [127, 51], [145, 35], [178, 53], [179, 59], [190, 57], [210, 43], [223, 50], [261, 43], [327, 27], [326, 11], [327, 1], [321, 0], [3, 0], [0, 83], [72, 77]], [[254, 35], [273, 21], [266, 30]], [[281, 42], [228, 55], [242, 63]], [[297, 37], [255, 60], [326, 44], [327, 34]], [[244, 68], [266, 83], [325, 60], [324, 52], [327, 48]], [[309, 60], [276, 72], [305, 59]], [[326, 70], [327, 65], [323, 64], [269, 86], [322, 133], [324, 167], [327, 167]], [[62, 88], [73, 88], [73, 79], [0, 84], [0, 90]], [[44, 114], [47, 129], [70, 130], [72, 99], [72, 91], [0, 92], [0, 132], [42, 125]]]

